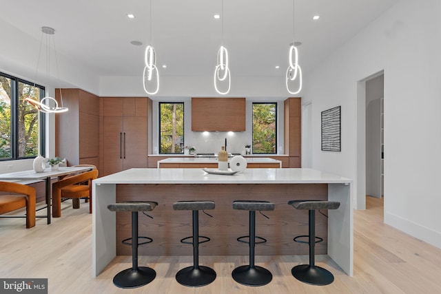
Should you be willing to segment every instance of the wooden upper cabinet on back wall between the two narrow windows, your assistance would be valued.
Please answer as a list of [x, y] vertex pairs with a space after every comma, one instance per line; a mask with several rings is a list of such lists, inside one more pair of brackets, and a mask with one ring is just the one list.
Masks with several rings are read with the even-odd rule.
[[193, 132], [245, 132], [245, 98], [192, 98]]

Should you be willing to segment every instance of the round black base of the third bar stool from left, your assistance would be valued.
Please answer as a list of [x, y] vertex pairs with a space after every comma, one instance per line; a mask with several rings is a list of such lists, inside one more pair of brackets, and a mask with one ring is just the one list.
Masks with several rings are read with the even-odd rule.
[[232, 272], [233, 279], [245, 286], [264, 286], [271, 282], [273, 275], [262, 266], [238, 266]]

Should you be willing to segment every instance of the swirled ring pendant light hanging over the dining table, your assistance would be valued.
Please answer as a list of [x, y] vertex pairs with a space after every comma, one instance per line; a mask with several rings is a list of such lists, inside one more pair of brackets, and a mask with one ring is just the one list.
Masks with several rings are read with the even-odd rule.
[[[57, 50], [55, 49], [54, 34], [55, 34], [55, 30], [53, 28], [49, 28], [49, 27], [41, 28], [39, 58], [37, 60], [37, 69], [35, 70], [34, 81], [37, 81], [37, 72], [39, 70], [41, 48], [43, 47], [43, 43], [45, 43], [45, 53], [46, 53], [46, 72], [47, 72], [46, 75], [48, 76], [48, 78], [50, 77], [50, 39], [52, 39], [52, 43], [54, 46], [55, 65], [57, 67], [57, 76], [59, 78]], [[43, 42], [43, 36], [46, 36], [45, 42]], [[46, 114], [50, 114], [50, 113], [57, 114], [61, 112], [67, 112], [69, 109], [67, 107], [63, 107], [63, 96], [61, 95], [61, 87], [59, 88], [59, 90], [60, 90], [61, 107], [59, 107], [57, 100], [55, 100], [55, 98], [52, 98], [50, 96], [45, 96], [43, 99], [41, 99], [41, 101], [37, 101], [32, 98], [25, 98], [25, 101], [27, 101], [30, 105], [34, 106], [39, 112], [44, 112]]]

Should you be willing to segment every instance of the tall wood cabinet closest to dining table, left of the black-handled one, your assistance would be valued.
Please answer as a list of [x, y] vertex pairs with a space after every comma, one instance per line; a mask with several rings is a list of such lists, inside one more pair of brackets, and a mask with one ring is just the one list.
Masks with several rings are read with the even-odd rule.
[[[99, 165], [99, 97], [81, 89], [61, 89], [68, 112], [55, 116], [55, 155], [69, 165]], [[60, 91], [55, 90], [60, 101]]]

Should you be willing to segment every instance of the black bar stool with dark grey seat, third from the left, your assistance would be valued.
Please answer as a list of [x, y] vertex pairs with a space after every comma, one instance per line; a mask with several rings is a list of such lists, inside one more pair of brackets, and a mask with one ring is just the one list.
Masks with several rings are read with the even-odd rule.
[[[239, 242], [249, 244], [249, 265], [236, 267], [232, 272], [232, 277], [236, 282], [245, 286], [266, 285], [271, 282], [273, 275], [262, 266], [254, 264], [254, 246], [267, 242], [265, 238], [256, 236], [256, 211], [273, 211], [274, 203], [258, 200], [236, 200], [233, 202], [233, 209], [249, 211], [249, 235], [237, 238]], [[265, 215], [263, 214], [263, 216]], [[268, 217], [265, 216], [265, 218]], [[244, 241], [245, 238], [249, 238], [249, 242]], [[256, 238], [261, 241], [256, 242]]]

